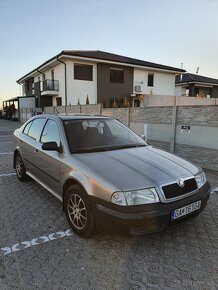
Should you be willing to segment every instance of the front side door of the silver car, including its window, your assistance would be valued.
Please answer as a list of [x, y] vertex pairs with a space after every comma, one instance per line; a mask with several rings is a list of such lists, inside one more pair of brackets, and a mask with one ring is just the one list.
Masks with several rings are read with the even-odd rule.
[[56, 142], [61, 145], [61, 138], [58, 124], [53, 119], [48, 119], [42, 131], [39, 147], [35, 152], [37, 163], [37, 178], [55, 192], [61, 190], [61, 162], [63, 154], [57, 151], [42, 149], [42, 144], [46, 142]]

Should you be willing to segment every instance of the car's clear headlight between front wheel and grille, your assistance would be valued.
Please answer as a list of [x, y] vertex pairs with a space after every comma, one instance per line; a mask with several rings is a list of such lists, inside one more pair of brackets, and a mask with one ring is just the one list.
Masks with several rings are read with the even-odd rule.
[[155, 188], [115, 192], [111, 202], [118, 205], [142, 205], [160, 202]]

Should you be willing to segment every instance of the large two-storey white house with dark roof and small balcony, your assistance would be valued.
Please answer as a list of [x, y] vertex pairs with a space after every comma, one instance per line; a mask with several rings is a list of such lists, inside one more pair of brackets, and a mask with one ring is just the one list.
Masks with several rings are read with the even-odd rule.
[[103, 51], [64, 50], [17, 82], [38, 107], [103, 103], [140, 106], [145, 95], [175, 94], [179, 68]]

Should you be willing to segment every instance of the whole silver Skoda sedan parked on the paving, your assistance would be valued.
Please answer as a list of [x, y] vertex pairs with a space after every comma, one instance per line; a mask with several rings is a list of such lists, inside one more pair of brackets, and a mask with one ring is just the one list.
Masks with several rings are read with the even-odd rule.
[[14, 137], [18, 179], [31, 177], [62, 201], [84, 237], [161, 231], [199, 214], [210, 196], [201, 168], [110, 117], [40, 115]]

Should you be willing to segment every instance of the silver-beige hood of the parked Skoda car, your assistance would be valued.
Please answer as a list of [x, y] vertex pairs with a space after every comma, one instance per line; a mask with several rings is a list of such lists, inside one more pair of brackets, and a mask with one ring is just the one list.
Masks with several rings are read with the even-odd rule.
[[77, 160], [97, 182], [107, 180], [123, 191], [160, 186], [199, 172], [194, 164], [151, 146], [83, 153]]

